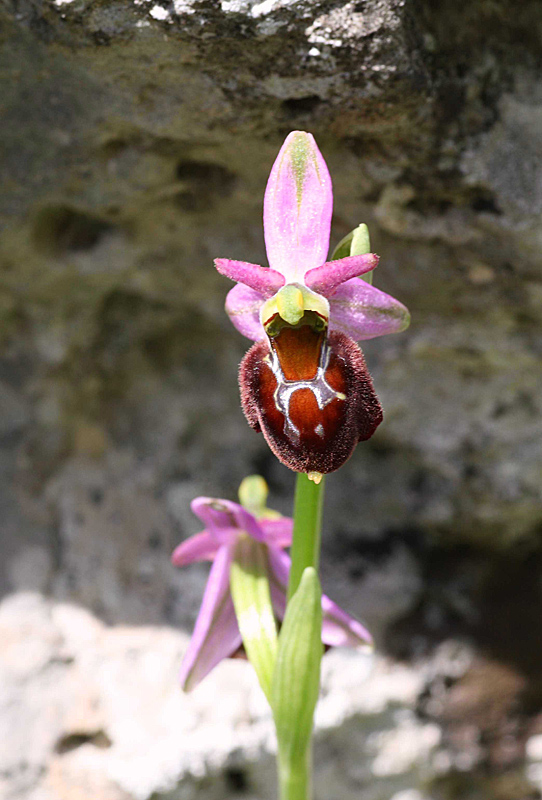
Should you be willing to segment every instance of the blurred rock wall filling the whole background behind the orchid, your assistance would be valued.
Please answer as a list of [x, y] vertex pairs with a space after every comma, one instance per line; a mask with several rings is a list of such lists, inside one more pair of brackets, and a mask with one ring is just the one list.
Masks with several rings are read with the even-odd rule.
[[185, 697], [198, 494], [293, 476], [244, 421], [217, 256], [311, 131], [412, 312], [364, 347], [385, 421], [328, 480], [317, 800], [542, 788], [539, 0], [4, 0], [0, 796], [271, 800], [246, 664]]

